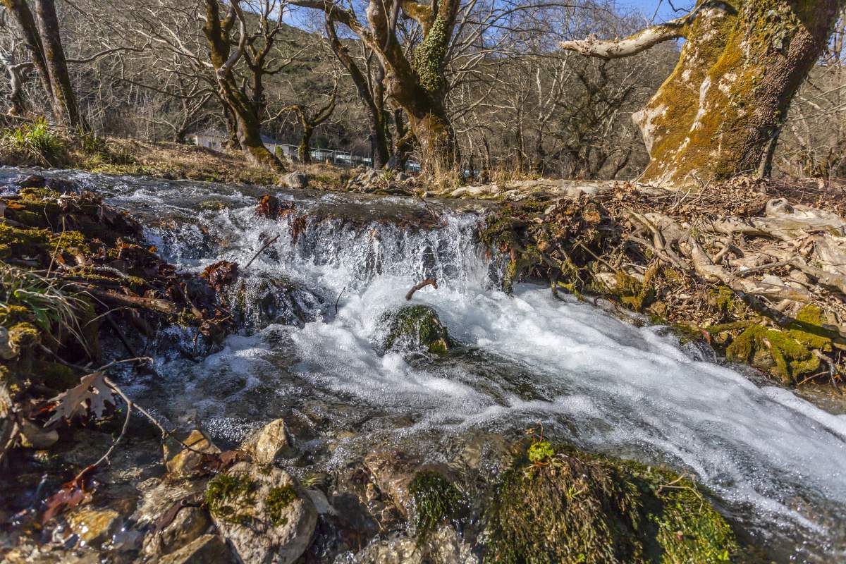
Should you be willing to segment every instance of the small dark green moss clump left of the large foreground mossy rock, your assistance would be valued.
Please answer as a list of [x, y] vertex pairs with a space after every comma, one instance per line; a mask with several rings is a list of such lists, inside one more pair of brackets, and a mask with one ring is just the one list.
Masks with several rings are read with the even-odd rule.
[[464, 504], [461, 492], [448, 479], [432, 470], [415, 474], [409, 484], [414, 500], [415, 533], [425, 539], [437, 526], [453, 517]]

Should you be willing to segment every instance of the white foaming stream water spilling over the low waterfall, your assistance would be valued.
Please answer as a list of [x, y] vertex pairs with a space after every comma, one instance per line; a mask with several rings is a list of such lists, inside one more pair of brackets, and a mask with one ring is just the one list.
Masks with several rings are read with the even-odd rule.
[[[546, 287], [497, 291], [501, 265], [475, 237], [483, 210], [277, 190], [295, 213], [271, 222], [254, 215], [259, 189], [61, 174], [142, 217], [150, 243], [186, 270], [243, 266], [278, 235], [231, 290], [244, 330], [206, 358], [162, 353], [162, 379], [129, 386], [174, 423], [228, 444], [262, 421], [319, 412], [304, 464], [328, 471], [376, 445], [437, 460], [457, 437], [542, 424], [588, 450], [695, 474], [778, 561], [846, 558], [846, 415], [680, 347], [663, 327]], [[439, 287], [412, 301], [436, 309], [459, 346], [384, 352], [383, 315], [432, 276]], [[190, 337], [161, 342], [190, 348]]]

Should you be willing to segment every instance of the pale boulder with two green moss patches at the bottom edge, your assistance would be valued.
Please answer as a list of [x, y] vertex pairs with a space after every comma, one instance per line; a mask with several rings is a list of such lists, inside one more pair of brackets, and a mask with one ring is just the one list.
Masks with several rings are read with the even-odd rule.
[[209, 481], [206, 506], [244, 564], [291, 564], [317, 524], [310, 497], [283, 470], [238, 463]]

